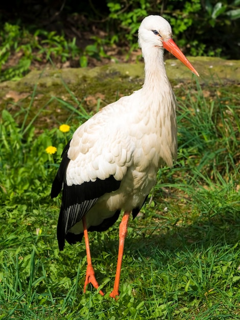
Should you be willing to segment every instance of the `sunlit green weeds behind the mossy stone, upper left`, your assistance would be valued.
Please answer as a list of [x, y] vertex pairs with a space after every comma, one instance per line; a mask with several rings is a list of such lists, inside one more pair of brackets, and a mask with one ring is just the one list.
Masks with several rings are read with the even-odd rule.
[[[19, 80], [29, 73], [34, 64], [45, 64], [66, 61], [76, 61], [78, 66], [87, 66], [88, 58], [101, 60], [106, 57], [103, 51], [104, 40], [94, 39], [94, 44], [86, 45], [83, 49], [76, 44], [76, 38], [67, 40], [63, 34], [55, 31], [47, 32], [37, 29], [31, 33], [29, 30], [11, 25], [6, 22], [0, 30], [0, 82]], [[18, 57], [17, 63], [11, 65], [13, 55]]]

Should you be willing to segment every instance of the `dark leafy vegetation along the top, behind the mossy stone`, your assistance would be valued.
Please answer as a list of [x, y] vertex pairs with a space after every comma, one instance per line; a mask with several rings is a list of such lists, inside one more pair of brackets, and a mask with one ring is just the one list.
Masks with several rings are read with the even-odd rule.
[[127, 59], [143, 17], [161, 14], [188, 55], [239, 58], [240, 0], [10, 0], [0, 9], [0, 81], [54, 61], [87, 66]]

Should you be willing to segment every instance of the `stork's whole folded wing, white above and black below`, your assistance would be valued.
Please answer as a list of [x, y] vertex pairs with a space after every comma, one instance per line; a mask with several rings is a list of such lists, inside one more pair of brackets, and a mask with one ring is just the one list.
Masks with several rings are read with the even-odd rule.
[[101, 196], [119, 188], [131, 165], [134, 146], [119, 121], [114, 121], [117, 116], [108, 112], [95, 116], [74, 133], [53, 181], [52, 198], [63, 188], [57, 227], [60, 250], [70, 228]]

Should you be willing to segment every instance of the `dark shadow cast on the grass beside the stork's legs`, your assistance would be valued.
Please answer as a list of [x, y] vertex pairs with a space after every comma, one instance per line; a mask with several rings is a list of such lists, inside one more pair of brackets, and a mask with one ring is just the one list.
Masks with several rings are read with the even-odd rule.
[[[135, 226], [138, 223], [141, 222], [136, 221], [135, 223], [134, 221]], [[118, 236], [115, 230], [117, 225], [118, 223], [114, 225], [114, 239], [109, 236], [110, 239], [104, 237], [104, 240], [101, 240], [100, 234], [90, 235], [90, 238], [96, 237], [98, 239], [98, 244], [91, 246], [91, 254], [100, 283], [104, 275], [98, 272], [98, 261], [101, 259], [103, 252], [108, 252], [112, 257], [106, 263], [111, 261], [111, 267], [115, 271], [118, 251]], [[134, 229], [133, 227], [132, 231], [129, 232], [124, 248], [124, 268], [128, 267], [129, 263], [131, 264], [132, 259], [145, 261], [145, 264], [148, 263], [147, 261], [149, 261], [149, 264], [156, 263], [161, 268], [162, 264], [174, 261], [176, 255], [187, 257], [189, 254], [191, 260], [195, 259], [196, 252], [201, 251], [209, 251], [211, 255], [214, 255], [215, 252], [220, 250], [224, 255], [229, 247], [234, 247], [240, 239], [240, 215], [226, 214], [216, 215], [212, 218], [201, 217], [194, 223], [182, 227], [176, 225], [164, 227], [159, 224], [150, 235], [145, 234], [145, 231], [139, 231], [138, 228]], [[109, 230], [109, 233], [111, 233], [111, 230]], [[82, 245], [84, 246], [84, 243]], [[106, 265], [105, 267], [107, 269], [110, 266]]]

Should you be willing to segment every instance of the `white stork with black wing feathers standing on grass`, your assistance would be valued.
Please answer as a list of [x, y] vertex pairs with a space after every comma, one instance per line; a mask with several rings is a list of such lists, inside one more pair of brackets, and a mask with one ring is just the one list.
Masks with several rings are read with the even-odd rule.
[[[198, 73], [172, 40], [164, 18], [150, 15], [138, 30], [145, 59], [145, 81], [132, 95], [113, 102], [82, 124], [62, 153], [51, 196], [61, 189], [57, 226], [59, 249], [84, 235], [87, 254], [84, 292], [99, 284], [91, 264], [88, 231], [105, 231], [124, 211], [119, 225], [119, 251], [112, 298], [119, 295], [119, 279], [129, 215], [141, 209], [160, 166], [171, 167], [177, 156], [176, 100], [167, 79], [163, 49]], [[100, 293], [104, 295], [103, 291]]]

